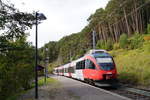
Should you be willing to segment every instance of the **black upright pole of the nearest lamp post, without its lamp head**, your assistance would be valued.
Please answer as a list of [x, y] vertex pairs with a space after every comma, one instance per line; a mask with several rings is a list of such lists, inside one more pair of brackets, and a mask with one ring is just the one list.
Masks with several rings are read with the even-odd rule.
[[36, 12], [36, 33], [35, 33], [35, 99], [38, 99], [38, 70], [37, 70], [37, 62], [38, 62], [38, 19], [37, 19], [37, 12]]

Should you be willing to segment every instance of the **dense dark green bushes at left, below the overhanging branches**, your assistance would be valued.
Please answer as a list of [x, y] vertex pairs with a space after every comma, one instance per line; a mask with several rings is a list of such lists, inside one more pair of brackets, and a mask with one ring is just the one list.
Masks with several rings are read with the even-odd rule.
[[[12, 48], [5, 55], [0, 54], [0, 98], [19, 92], [21, 89], [30, 88], [31, 79], [34, 76], [33, 48], [22, 40], [11, 43]], [[20, 47], [20, 48], [19, 48]], [[18, 50], [17, 50], [18, 49]]]

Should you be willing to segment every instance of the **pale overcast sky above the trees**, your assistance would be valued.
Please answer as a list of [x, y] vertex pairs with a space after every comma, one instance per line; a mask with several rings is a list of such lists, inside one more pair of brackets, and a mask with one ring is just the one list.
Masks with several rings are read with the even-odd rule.
[[[4, 0], [2, 0], [4, 1]], [[39, 25], [38, 47], [49, 41], [58, 41], [63, 36], [80, 32], [87, 18], [96, 9], [105, 7], [109, 0], [7, 0], [20, 11], [39, 11], [47, 20]], [[35, 41], [35, 28], [30, 30], [28, 41]]]

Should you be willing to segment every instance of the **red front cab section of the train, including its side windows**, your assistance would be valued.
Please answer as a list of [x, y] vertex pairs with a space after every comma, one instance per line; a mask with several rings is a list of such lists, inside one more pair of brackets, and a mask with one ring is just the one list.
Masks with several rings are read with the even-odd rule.
[[116, 65], [113, 58], [105, 51], [95, 50], [85, 55], [84, 80], [91, 84], [114, 84], [117, 82]]

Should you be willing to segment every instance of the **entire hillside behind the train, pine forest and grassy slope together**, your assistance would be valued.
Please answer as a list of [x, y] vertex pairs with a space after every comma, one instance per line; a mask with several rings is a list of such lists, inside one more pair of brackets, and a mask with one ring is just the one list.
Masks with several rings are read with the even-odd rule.
[[95, 31], [96, 49], [106, 49], [112, 54], [118, 67], [119, 79], [148, 85], [149, 11], [149, 0], [110, 0], [105, 8], [99, 8], [89, 16], [88, 25], [79, 33], [72, 33], [59, 41], [50, 41], [40, 48], [40, 63], [45, 63], [45, 48], [48, 48], [50, 71], [78, 59], [93, 48], [92, 32]]

